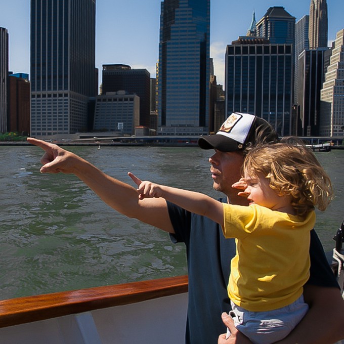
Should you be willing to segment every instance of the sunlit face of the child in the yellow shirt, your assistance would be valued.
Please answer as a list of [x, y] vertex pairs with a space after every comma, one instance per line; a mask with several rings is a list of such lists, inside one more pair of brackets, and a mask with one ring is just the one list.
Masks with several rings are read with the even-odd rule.
[[269, 186], [269, 179], [264, 175], [251, 176], [245, 171], [244, 180], [247, 187], [244, 191], [249, 204], [259, 204], [272, 210], [281, 210], [286, 205], [290, 205], [288, 196], [280, 196]]

